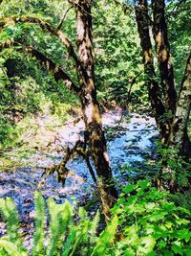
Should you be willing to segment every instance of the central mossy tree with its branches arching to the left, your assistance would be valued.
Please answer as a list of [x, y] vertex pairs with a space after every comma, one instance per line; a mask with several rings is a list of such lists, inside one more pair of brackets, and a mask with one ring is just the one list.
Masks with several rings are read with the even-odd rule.
[[[84, 143], [82, 146], [83, 154], [92, 157], [97, 176], [97, 188], [100, 199], [102, 201], [103, 213], [106, 217], [110, 216], [110, 208], [117, 198], [117, 190], [115, 188], [112, 171], [110, 167], [109, 157], [107, 153], [106, 140], [104, 130], [102, 128], [102, 117], [99, 105], [96, 99], [96, 83], [95, 83], [95, 63], [93, 57], [93, 38], [92, 38], [92, 1], [91, 0], [74, 0], [69, 1], [74, 7], [76, 14], [76, 46], [77, 54], [74, 46], [67, 36], [48, 22], [37, 17], [21, 16], [21, 17], [3, 17], [0, 19], [0, 31], [6, 26], [15, 26], [17, 23], [33, 23], [43, 30], [44, 33], [50, 33], [57, 36], [62, 44], [66, 47], [69, 55], [74, 59], [76, 67], [76, 75], [78, 85], [70, 78], [70, 76], [58, 67], [51, 58], [47, 58], [37, 49], [31, 46], [23, 45], [19, 49], [27, 51], [35, 56], [41, 63], [45, 64], [47, 69], [53, 73], [56, 80], [65, 81], [67, 87], [74, 91], [81, 102], [83, 120], [85, 124]], [[59, 26], [60, 27], [60, 26]], [[18, 42], [3, 42], [1, 47], [10, 47], [15, 45], [18, 47], [22, 40]], [[79, 146], [79, 144], [77, 144]], [[77, 150], [77, 147], [74, 147]], [[69, 150], [71, 155], [73, 150]], [[66, 159], [53, 168], [58, 170], [58, 174], [62, 179], [67, 175]], [[89, 161], [90, 165], [90, 161]], [[92, 169], [93, 170], [93, 169]]]

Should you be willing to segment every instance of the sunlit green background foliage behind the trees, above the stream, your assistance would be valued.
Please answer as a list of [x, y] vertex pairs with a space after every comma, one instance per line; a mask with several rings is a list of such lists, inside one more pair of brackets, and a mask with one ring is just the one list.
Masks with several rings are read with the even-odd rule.
[[[190, 50], [191, 35], [188, 25], [190, 1], [180, 5], [177, 1], [168, 1], [166, 4], [169, 39], [176, 70], [175, 77], [179, 87]], [[2, 1], [0, 14], [1, 16], [38, 16], [56, 27], [62, 17], [62, 10], [67, 10], [68, 7], [65, 1]], [[129, 109], [133, 107], [133, 109], [150, 112], [133, 9], [131, 1], [126, 1], [124, 8], [115, 1], [94, 3], [93, 35], [98, 96], [103, 106], [111, 105], [112, 102], [112, 105], [121, 105], [124, 108], [128, 105]], [[67, 13], [62, 28], [74, 42], [73, 10]], [[75, 77], [74, 63], [59, 40], [48, 34], [45, 35], [38, 26], [10, 24], [0, 35], [1, 41], [7, 39], [15, 39], [35, 46]], [[22, 143], [22, 139], [19, 139], [22, 133], [19, 128], [20, 121], [25, 124], [33, 115], [49, 114], [57, 118], [56, 126], [60, 124], [60, 119], [61, 122], [63, 121], [66, 111], [74, 107], [77, 101], [65, 89], [62, 82], [53, 81], [52, 76], [40, 67], [35, 59], [19, 53], [18, 48], [1, 51], [1, 151], [14, 146], [15, 143]], [[76, 81], [76, 78], [74, 80]]]

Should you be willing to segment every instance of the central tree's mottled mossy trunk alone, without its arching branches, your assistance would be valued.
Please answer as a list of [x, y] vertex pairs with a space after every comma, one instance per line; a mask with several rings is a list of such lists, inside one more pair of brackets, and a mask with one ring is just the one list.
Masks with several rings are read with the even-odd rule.
[[81, 105], [86, 127], [86, 142], [91, 149], [96, 167], [98, 192], [103, 212], [110, 217], [110, 208], [117, 198], [112, 171], [102, 128], [102, 118], [96, 100], [95, 64], [92, 42], [92, 14], [90, 0], [74, 3], [76, 12], [77, 50], [81, 68], [78, 72]]

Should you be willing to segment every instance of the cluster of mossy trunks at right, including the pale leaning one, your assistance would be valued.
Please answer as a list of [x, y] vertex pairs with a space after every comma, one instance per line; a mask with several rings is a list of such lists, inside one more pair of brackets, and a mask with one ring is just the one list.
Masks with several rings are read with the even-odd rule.
[[153, 33], [159, 62], [160, 83], [156, 80], [150, 36], [151, 20], [147, 0], [139, 0], [136, 7], [138, 34], [143, 53], [145, 73], [149, 83], [149, 98], [159, 128], [161, 142], [175, 147], [180, 155], [188, 158], [191, 144], [187, 135], [187, 124], [191, 105], [191, 64], [190, 57], [180, 86], [179, 97], [174, 81], [170, 44], [165, 21], [164, 0], [153, 0]]

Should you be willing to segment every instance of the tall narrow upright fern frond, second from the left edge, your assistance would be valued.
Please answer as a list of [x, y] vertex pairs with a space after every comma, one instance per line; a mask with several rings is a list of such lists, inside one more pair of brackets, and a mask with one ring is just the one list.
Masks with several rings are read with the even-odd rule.
[[33, 256], [44, 255], [45, 247], [44, 247], [44, 238], [45, 238], [45, 230], [44, 225], [46, 221], [46, 204], [45, 199], [40, 195], [39, 192], [35, 192], [34, 194], [34, 223], [35, 223], [35, 232], [33, 239]]

